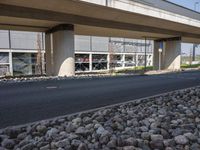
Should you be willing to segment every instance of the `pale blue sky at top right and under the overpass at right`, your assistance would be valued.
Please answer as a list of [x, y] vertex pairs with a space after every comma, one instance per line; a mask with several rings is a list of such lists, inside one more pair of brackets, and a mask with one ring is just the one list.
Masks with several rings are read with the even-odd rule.
[[[199, 4], [196, 4], [196, 11], [200, 12], [200, 0], [168, 0], [172, 3], [176, 3], [178, 5], [187, 7], [189, 9], [195, 10], [195, 3], [199, 2]], [[187, 55], [190, 54], [191, 48], [193, 47], [192, 44], [183, 43], [182, 44], [182, 53], [186, 53]], [[197, 54], [200, 55], [200, 46], [196, 50]]]

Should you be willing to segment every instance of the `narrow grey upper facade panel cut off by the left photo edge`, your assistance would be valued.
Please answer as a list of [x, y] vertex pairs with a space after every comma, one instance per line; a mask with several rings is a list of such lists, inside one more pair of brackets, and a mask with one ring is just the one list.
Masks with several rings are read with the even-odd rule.
[[9, 34], [7, 30], [0, 30], [0, 48], [9, 48]]

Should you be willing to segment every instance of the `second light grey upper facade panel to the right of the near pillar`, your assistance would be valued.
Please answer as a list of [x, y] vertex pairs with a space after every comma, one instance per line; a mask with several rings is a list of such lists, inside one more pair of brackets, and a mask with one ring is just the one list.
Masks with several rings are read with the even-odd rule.
[[92, 37], [92, 51], [108, 52], [108, 37]]

